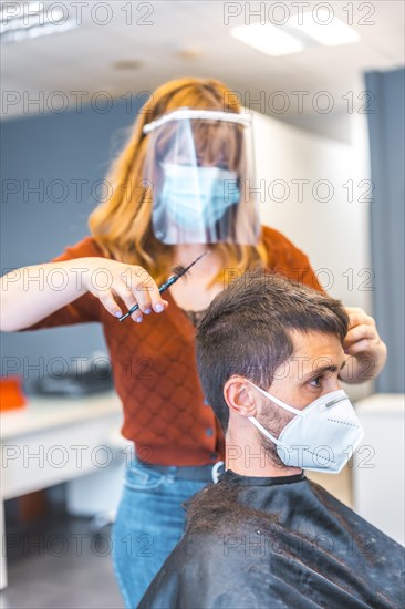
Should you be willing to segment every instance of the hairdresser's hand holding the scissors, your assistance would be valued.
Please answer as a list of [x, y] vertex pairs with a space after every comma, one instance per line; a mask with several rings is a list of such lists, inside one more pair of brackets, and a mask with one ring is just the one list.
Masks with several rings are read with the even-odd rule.
[[85, 258], [85, 286], [112, 316], [121, 317], [138, 304], [139, 309], [131, 317], [134, 321], [142, 321], [143, 313], [159, 313], [168, 307], [154, 279], [143, 267], [96, 257]]

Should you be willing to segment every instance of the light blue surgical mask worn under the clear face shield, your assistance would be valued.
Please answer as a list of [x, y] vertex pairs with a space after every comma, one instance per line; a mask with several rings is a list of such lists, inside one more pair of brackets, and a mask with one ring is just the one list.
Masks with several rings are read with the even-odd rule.
[[177, 164], [163, 164], [163, 169], [159, 204], [185, 230], [205, 231], [239, 203], [236, 172]]

